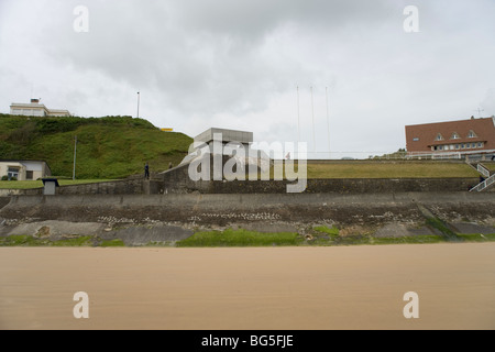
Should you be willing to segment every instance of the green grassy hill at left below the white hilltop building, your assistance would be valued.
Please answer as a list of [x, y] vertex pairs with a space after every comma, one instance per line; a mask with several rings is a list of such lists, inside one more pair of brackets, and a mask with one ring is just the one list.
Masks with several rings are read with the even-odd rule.
[[176, 166], [193, 139], [162, 132], [131, 117], [19, 117], [0, 114], [0, 160], [43, 160], [56, 176], [73, 175], [77, 135], [77, 178], [123, 178]]

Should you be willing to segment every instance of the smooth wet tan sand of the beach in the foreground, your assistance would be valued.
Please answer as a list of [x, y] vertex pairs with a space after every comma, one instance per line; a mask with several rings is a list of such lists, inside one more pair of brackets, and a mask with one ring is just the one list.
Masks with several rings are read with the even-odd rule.
[[0, 328], [495, 329], [495, 243], [0, 248]]

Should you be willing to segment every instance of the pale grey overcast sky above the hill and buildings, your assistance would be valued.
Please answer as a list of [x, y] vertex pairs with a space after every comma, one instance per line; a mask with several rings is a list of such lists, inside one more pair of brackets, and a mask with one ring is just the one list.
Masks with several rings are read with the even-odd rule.
[[495, 114], [494, 14], [493, 0], [0, 0], [0, 112], [42, 98], [135, 117], [140, 91], [160, 128], [367, 157], [405, 147], [407, 124]]

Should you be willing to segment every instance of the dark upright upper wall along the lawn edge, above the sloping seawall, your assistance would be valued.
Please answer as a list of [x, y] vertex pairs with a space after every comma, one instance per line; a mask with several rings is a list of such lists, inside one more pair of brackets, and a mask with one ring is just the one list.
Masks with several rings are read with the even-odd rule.
[[[184, 175], [183, 175], [184, 176]], [[172, 177], [172, 178], [170, 178]], [[376, 194], [376, 193], [462, 193], [479, 178], [312, 178], [304, 194]], [[286, 194], [287, 180], [199, 180], [191, 182], [177, 174], [163, 180], [125, 179], [62, 186], [57, 195], [162, 195], [162, 194]], [[294, 183], [293, 183], [294, 184]], [[490, 190], [495, 191], [495, 187]], [[0, 197], [43, 195], [43, 188], [0, 189]]]

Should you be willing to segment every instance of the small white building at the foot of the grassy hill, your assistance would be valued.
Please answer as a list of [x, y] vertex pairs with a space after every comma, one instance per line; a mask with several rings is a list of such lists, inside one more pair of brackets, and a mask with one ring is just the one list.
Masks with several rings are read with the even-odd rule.
[[3, 176], [15, 177], [18, 180], [30, 180], [52, 176], [52, 170], [43, 161], [0, 160], [0, 178]]

